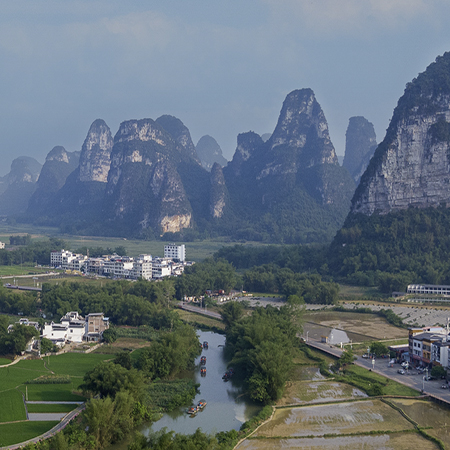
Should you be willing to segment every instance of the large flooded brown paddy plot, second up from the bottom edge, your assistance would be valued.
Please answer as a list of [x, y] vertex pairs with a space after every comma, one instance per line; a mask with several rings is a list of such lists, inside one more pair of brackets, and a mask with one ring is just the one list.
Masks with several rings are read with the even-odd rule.
[[379, 400], [278, 409], [255, 436], [324, 436], [413, 429], [400, 413]]

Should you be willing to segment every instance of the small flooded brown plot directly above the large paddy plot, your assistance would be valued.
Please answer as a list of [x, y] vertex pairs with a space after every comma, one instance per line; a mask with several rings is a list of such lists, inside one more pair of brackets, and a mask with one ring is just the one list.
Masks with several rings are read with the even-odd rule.
[[349, 398], [363, 398], [367, 394], [348, 384], [334, 381], [288, 382], [283, 397], [277, 406], [308, 402], [330, 402]]

